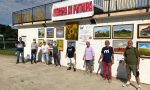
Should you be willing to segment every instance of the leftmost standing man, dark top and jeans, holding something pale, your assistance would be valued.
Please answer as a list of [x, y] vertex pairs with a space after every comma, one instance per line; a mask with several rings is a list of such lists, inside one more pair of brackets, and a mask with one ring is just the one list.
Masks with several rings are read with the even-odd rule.
[[17, 62], [16, 62], [16, 64], [19, 63], [20, 54], [21, 54], [21, 57], [22, 57], [22, 63], [25, 63], [24, 62], [25, 43], [24, 43], [24, 41], [22, 41], [21, 37], [19, 37], [19, 41], [16, 42], [15, 46], [17, 47]]

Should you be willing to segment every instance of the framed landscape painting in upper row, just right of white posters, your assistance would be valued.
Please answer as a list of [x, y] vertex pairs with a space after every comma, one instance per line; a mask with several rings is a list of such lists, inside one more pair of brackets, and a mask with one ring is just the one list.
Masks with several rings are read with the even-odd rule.
[[111, 38], [111, 26], [94, 27], [94, 39], [110, 39], [110, 38]]

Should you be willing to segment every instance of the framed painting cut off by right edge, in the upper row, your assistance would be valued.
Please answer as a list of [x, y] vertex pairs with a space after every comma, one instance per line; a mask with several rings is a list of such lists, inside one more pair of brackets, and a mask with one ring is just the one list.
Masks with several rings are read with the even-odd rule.
[[138, 38], [150, 38], [150, 23], [138, 25]]

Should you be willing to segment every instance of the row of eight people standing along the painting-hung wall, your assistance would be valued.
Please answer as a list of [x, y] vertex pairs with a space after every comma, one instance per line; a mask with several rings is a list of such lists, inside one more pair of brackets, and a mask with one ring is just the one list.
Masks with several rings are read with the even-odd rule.
[[[140, 64], [140, 54], [137, 48], [133, 47], [133, 41], [129, 40], [128, 45], [124, 51], [124, 65], [126, 66], [126, 73], [127, 73], [127, 82], [123, 85], [123, 87], [130, 85], [131, 79], [131, 72], [135, 76], [137, 81], [138, 87], [137, 90], [141, 90], [140, 86], [140, 78], [139, 78], [139, 64]], [[17, 47], [17, 62], [19, 63], [19, 56], [22, 55], [22, 62], [24, 63], [24, 56], [23, 56], [23, 49], [25, 47], [25, 43], [22, 41], [22, 38], [19, 38], [19, 41], [16, 43]], [[31, 64], [33, 61], [36, 63], [36, 53], [37, 53], [38, 46], [36, 44], [36, 40], [33, 39], [33, 43], [31, 44]], [[45, 60], [45, 63], [48, 64], [50, 60], [50, 51], [49, 45], [46, 42], [43, 42], [41, 46], [42, 51], [42, 59]], [[71, 70], [73, 68], [76, 71], [76, 49], [72, 46], [72, 43], [69, 42], [67, 50], [66, 50], [66, 58], [67, 58], [67, 70]], [[54, 42], [53, 45], [53, 58], [54, 64], [60, 65], [60, 58], [59, 58], [59, 50]], [[94, 49], [90, 46], [90, 42], [86, 42], [86, 48], [83, 56], [84, 64], [86, 66], [85, 71], [92, 73], [94, 70], [94, 61], [95, 61], [95, 53]], [[51, 60], [50, 60], [51, 63]], [[111, 83], [112, 81], [112, 70], [111, 67], [114, 64], [114, 50], [113, 47], [110, 46], [110, 42], [108, 40], [105, 41], [105, 46], [101, 50], [101, 55], [98, 60], [99, 64], [103, 66], [103, 80], [108, 79], [108, 82]]]

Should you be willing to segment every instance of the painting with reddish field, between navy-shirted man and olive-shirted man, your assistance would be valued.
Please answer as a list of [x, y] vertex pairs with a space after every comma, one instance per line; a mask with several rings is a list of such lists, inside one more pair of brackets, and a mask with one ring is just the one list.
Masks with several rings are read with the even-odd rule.
[[122, 54], [128, 45], [128, 40], [113, 40], [114, 53]]

